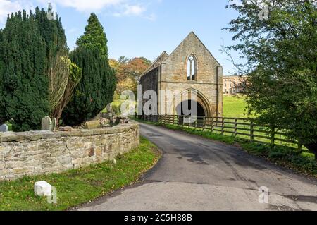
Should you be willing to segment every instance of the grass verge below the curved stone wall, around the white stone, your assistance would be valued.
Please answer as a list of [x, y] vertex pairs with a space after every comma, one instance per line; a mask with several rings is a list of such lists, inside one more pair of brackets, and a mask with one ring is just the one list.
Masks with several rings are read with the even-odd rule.
[[[0, 182], [0, 210], [66, 210], [139, 181], [161, 157], [158, 148], [141, 138], [139, 147], [117, 157], [116, 164], [104, 162], [61, 174], [27, 176]], [[57, 204], [35, 197], [34, 183], [47, 181], [57, 189]]]

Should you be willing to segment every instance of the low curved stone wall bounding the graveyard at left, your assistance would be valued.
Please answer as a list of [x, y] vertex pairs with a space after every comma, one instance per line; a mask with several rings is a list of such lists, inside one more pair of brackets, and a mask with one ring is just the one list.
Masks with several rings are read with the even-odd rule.
[[50, 174], [112, 160], [139, 145], [139, 125], [70, 132], [0, 133], [0, 180]]

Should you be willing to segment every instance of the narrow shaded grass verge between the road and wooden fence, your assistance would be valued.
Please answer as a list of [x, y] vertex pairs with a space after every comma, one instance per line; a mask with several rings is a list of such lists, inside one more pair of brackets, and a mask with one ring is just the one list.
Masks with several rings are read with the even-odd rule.
[[[139, 122], [143, 123], [144, 121]], [[294, 151], [294, 149], [291, 149], [289, 147], [275, 146], [274, 148], [272, 148], [269, 144], [250, 142], [249, 140], [245, 140], [242, 138], [220, 135], [203, 130], [195, 130], [194, 128], [168, 124], [164, 125], [161, 123], [146, 123], [154, 124], [156, 126], [164, 126], [172, 130], [182, 130], [192, 135], [198, 135], [211, 140], [218, 140], [228, 145], [235, 145], [237, 147], [241, 147], [242, 150], [248, 152], [249, 154], [255, 155], [257, 157], [262, 157], [269, 162], [273, 162], [287, 169], [292, 169], [293, 171], [297, 171], [300, 174], [305, 174], [307, 176], [317, 178], [317, 162], [315, 161], [314, 155], [310, 152], [302, 152], [302, 154], [298, 154]]]

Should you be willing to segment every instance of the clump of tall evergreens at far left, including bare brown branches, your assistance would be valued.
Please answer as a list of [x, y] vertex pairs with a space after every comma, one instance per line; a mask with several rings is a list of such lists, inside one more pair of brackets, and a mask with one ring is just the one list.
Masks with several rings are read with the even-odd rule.
[[60, 116], [81, 77], [68, 59], [61, 18], [49, 20], [39, 8], [11, 14], [0, 46], [0, 123], [38, 130], [44, 116]]

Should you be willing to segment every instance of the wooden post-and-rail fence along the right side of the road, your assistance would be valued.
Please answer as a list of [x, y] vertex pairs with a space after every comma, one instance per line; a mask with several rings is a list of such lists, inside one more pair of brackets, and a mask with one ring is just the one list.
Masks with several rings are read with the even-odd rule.
[[282, 145], [302, 150], [302, 145], [298, 140], [287, 138], [286, 130], [259, 126], [253, 118], [159, 115], [142, 116], [142, 120], [193, 128], [195, 130], [200, 129], [221, 135], [229, 134], [233, 137], [251, 140], [252, 142], [265, 142], [271, 143], [272, 146]]

